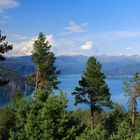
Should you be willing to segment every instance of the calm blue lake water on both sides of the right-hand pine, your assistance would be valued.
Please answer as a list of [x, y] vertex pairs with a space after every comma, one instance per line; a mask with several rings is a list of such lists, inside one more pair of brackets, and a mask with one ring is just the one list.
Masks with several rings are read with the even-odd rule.
[[[70, 75], [62, 75], [60, 76], [61, 84], [59, 86], [63, 92], [67, 93], [68, 98], [68, 109], [87, 109], [88, 106], [81, 104], [78, 106], [74, 106], [74, 96], [71, 95], [71, 92], [74, 91], [74, 88], [78, 86], [78, 81], [81, 79], [80, 74], [70, 74]], [[116, 102], [127, 109], [127, 98], [124, 96], [123, 91], [123, 83], [125, 80], [123, 79], [107, 79], [106, 82], [108, 87], [110, 88], [110, 92], [112, 94], [111, 100]]]

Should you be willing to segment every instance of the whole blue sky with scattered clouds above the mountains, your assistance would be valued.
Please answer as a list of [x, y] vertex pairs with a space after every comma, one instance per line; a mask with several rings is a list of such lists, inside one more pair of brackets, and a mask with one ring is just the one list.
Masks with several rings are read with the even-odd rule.
[[56, 55], [140, 55], [140, 0], [0, 0], [8, 56], [30, 55], [39, 32]]

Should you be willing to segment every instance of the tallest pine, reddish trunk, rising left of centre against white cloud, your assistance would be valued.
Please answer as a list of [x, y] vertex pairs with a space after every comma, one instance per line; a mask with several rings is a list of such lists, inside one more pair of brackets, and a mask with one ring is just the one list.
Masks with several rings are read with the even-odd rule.
[[46, 41], [43, 33], [40, 33], [38, 39], [33, 44], [32, 59], [36, 65], [35, 73], [35, 92], [41, 87], [51, 93], [53, 89], [58, 88], [59, 81], [57, 76], [60, 71], [54, 66], [55, 56], [51, 52], [52, 46]]

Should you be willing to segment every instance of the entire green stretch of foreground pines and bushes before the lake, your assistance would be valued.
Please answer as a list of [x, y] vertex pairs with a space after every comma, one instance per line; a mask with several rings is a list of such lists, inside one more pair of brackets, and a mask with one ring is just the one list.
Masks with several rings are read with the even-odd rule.
[[[13, 47], [0, 32], [1, 64]], [[79, 86], [71, 93], [75, 105], [86, 104], [89, 109], [68, 110], [67, 93], [58, 88], [61, 71], [45, 34], [39, 33], [34, 41], [31, 58], [35, 72], [26, 78], [34, 87], [33, 96], [29, 99], [17, 88], [10, 104], [0, 108], [0, 140], [140, 140], [139, 73], [124, 83], [126, 110], [111, 100], [102, 64], [90, 56]], [[1, 70], [0, 86], [8, 82]]]

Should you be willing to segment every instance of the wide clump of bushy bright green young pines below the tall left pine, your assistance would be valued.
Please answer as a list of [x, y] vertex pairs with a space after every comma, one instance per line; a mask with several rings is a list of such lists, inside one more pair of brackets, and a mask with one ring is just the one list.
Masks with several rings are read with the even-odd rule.
[[51, 94], [44, 102], [23, 100], [16, 109], [16, 125], [11, 140], [74, 140], [84, 125], [66, 111], [65, 95]]

